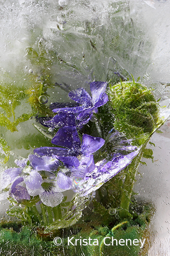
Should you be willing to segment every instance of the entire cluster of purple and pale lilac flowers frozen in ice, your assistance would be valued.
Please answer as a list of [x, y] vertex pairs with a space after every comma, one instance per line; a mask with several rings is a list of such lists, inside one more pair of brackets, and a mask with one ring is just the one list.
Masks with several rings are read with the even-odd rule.
[[11, 197], [22, 203], [39, 195], [40, 202], [55, 207], [62, 202], [63, 191], [72, 189], [81, 196], [88, 195], [131, 162], [139, 149], [130, 145], [126, 148], [133, 152], [126, 155], [117, 152], [110, 161], [95, 163], [94, 153], [102, 148], [105, 140], [83, 134], [81, 143], [77, 132], [77, 128], [81, 129], [92, 119], [98, 107], [108, 102], [106, 86], [106, 82], [92, 82], [92, 96], [83, 88], [72, 90], [68, 96], [77, 102], [75, 106], [55, 108], [54, 104], [56, 115], [39, 121], [47, 127], [59, 128], [51, 140], [56, 146], [36, 148], [27, 159], [15, 160], [19, 167], [2, 172], [1, 198]]

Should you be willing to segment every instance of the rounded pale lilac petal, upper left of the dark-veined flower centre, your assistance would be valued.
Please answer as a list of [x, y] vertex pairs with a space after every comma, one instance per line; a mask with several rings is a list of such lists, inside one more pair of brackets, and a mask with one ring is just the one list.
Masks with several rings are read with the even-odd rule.
[[31, 171], [27, 181], [25, 178], [25, 183], [29, 189], [39, 189], [42, 183], [42, 176], [36, 171]]

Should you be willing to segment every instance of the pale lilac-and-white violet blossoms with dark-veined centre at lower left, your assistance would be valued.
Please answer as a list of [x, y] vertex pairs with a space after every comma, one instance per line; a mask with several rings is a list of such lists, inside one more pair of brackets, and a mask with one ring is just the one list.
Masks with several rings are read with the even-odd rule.
[[9, 168], [1, 173], [0, 190], [7, 190], [5, 194], [4, 191], [1, 193], [3, 198], [5, 195], [6, 198], [11, 196], [20, 203], [23, 200], [30, 200], [30, 195], [39, 195], [40, 200], [51, 207], [62, 202], [63, 189], [57, 185], [56, 175], [51, 173], [59, 167], [59, 160], [29, 155], [28, 159], [16, 160], [15, 163], [21, 168]]

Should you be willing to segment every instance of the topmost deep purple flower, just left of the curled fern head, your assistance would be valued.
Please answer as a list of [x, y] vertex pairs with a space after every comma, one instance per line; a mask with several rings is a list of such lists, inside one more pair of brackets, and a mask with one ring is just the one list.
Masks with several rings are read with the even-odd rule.
[[42, 125], [47, 127], [77, 126], [81, 127], [88, 123], [97, 112], [97, 108], [108, 102], [108, 95], [105, 93], [107, 82], [92, 82], [90, 84], [91, 95], [84, 88], [72, 90], [68, 96], [81, 106], [71, 108], [55, 108], [57, 112], [50, 120], [43, 120]]

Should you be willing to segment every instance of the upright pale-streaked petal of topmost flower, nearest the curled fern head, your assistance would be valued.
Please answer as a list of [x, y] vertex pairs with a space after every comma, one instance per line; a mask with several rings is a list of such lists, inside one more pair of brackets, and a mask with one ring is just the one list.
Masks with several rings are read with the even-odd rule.
[[101, 99], [106, 87], [107, 82], [92, 82], [90, 84], [93, 105]]

